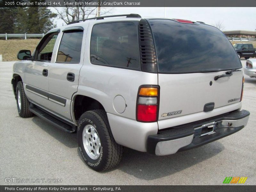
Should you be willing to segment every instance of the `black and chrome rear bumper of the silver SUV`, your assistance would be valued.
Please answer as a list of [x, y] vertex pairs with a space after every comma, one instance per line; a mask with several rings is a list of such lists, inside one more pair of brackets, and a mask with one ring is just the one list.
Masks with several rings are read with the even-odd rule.
[[[160, 131], [148, 136], [147, 152], [161, 156], [202, 146], [240, 131], [246, 126], [249, 116], [250, 112], [246, 110], [233, 111]], [[210, 124], [213, 125], [212, 131], [203, 135], [202, 129]]]

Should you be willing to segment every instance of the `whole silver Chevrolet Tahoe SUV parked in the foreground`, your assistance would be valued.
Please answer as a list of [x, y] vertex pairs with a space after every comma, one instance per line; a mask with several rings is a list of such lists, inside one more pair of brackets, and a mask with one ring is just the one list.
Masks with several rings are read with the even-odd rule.
[[219, 29], [108, 17], [52, 29], [33, 55], [18, 53], [12, 84], [21, 117], [77, 132], [96, 171], [115, 167], [123, 146], [170, 155], [244, 128], [242, 65]]

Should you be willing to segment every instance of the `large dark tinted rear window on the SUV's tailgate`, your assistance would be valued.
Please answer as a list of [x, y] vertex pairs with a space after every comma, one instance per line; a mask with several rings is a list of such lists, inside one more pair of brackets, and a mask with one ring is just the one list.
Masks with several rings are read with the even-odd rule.
[[217, 28], [173, 20], [149, 20], [158, 73], [196, 73], [241, 68], [228, 38]]

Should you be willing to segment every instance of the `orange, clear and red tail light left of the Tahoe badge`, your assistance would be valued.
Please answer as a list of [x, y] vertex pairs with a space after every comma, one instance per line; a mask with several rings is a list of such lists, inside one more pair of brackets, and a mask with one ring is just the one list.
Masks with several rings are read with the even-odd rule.
[[145, 85], [139, 88], [136, 118], [140, 122], [156, 122], [159, 108], [159, 86]]

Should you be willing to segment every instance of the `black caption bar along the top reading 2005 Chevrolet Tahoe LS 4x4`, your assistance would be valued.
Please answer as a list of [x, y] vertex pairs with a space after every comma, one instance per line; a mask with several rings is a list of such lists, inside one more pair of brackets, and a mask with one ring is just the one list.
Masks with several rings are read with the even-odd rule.
[[[256, 0], [66, 0], [86, 7], [255, 7]], [[99, 2], [100, 1], [100, 2]], [[8, 3], [9, 2], [9, 3]], [[26, 4], [24, 4], [26, 3]], [[71, 4], [70, 4], [71, 3]], [[64, 0], [2, 0], [0, 7], [65, 7]], [[150, 13], [149, 13], [150, 14]]]

